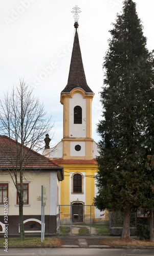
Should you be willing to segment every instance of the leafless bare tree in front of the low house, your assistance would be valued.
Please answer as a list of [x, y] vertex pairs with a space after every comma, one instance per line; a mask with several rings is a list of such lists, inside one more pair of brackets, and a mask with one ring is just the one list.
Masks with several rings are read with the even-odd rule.
[[[46, 118], [46, 114], [38, 98], [33, 96], [33, 90], [22, 79], [20, 79], [18, 86], [13, 87], [12, 91], [7, 92], [4, 99], [0, 100], [1, 135], [9, 137], [7, 158], [12, 169], [8, 168], [8, 171], [16, 187], [19, 201], [20, 240], [25, 238], [23, 223], [24, 171], [30, 163], [31, 150], [38, 152], [42, 149], [45, 135], [51, 131], [53, 126], [51, 125], [51, 117]], [[14, 148], [14, 145], [12, 148], [11, 139], [15, 140], [16, 148]], [[3, 156], [6, 158], [4, 148]], [[8, 164], [8, 159], [4, 159], [6, 164]], [[20, 187], [18, 186], [18, 179]]]

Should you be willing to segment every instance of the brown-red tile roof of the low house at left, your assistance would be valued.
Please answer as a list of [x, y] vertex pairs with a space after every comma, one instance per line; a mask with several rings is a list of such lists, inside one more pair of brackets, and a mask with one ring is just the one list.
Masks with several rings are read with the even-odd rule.
[[[11, 168], [12, 160], [14, 166], [19, 167], [18, 157], [20, 149], [21, 144], [19, 142], [9, 139], [8, 136], [0, 135], [0, 168]], [[62, 169], [58, 163], [40, 155], [39, 153], [31, 150], [29, 147], [24, 146], [23, 153], [25, 154], [24, 165], [26, 168]]]

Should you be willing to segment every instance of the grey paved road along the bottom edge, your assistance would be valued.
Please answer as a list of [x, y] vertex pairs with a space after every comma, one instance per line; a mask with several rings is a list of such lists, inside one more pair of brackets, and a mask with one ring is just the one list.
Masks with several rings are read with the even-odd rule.
[[89, 249], [89, 248], [29, 248], [29, 249], [0, 249], [0, 255], [8, 256], [154, 256], [154, 249]]

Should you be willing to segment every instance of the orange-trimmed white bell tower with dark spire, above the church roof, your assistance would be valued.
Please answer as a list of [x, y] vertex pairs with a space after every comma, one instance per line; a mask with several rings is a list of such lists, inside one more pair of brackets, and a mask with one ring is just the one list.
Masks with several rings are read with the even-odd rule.
[[[75, 16], [76, 17], [76, 16]], [[92, 100], [93, 91], [86, 83], [75, 20], [75, 37], [67, 86], [60, 102], [63, 104], [63, 159], [93, 159]]]

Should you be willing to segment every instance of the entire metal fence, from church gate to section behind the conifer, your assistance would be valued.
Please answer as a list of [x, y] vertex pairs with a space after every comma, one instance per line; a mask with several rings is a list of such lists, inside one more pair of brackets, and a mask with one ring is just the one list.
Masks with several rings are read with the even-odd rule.
[[[83, 205], [81, 203], [58, 205], [58, 233], [81, 234], [80, 230], [84, 228], [87, 230], [87, 234], [99, 234], [98, 226], [102, 225], [106, 228], [105, 234], [120, 235], [123, 228], [124, 212], [106, 211], [104, 219], [100, 218], [102, 215], [94, 205]], [[149, 225], [149, 218], [138, 217], [137, 212], [132, 210], [130, 213], [131, 235], [136, 234], [137, 224]]]

